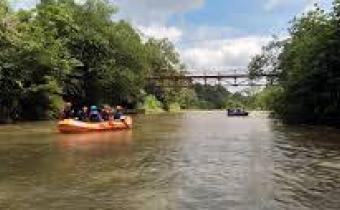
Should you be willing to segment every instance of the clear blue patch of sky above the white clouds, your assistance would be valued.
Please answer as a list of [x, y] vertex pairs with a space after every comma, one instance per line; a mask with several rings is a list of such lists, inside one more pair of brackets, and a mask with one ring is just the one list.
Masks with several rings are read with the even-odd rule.
[[[268, 10], [263, 0], [210, 0], [199, 10], [188, 12], [185, 20], [192, 25], [228, 26], [248, 33], [268, 33], [271, 28], [283, 26], [303, 8], [302, 2], [291, 8]], [[176, 24], [176, 22], [172, 22]], [[269, 30], [268, 30], [269, 29]]]

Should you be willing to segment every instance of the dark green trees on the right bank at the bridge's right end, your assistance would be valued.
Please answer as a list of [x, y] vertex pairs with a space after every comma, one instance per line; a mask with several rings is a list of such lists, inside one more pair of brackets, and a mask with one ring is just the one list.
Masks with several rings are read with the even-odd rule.
[[277, 86], [259, 93], [263, 107], [288, 122], [340, 122], [340, 1], [295, 18], [289, 38], [255, 56], [250, 73], [278, 74]]

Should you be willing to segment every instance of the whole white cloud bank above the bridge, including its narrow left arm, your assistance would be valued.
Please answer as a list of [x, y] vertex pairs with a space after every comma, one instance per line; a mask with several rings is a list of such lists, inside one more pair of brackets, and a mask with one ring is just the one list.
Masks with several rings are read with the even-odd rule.
[[227, 26], [180, 29], [153, 25], [138, 28], [147, 36], [172, 40], [189, 70], [244, 68], [261, 52], [262, 46], [272, 40], [271, 37], [240, 35]]

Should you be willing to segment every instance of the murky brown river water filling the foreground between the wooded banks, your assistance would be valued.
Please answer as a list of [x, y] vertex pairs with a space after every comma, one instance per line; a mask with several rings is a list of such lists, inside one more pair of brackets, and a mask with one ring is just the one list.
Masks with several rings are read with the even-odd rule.
[[0, 127], [0, 209], [340, 209], [340, 130], [225, 112]]

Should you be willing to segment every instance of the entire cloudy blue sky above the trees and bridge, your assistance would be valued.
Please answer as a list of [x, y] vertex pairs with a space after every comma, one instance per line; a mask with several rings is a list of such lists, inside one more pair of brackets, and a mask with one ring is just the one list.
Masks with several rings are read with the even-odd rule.
[[[13, 0], [15, 8], [38, 0]], [[289, 21], [332, 0], [110, 0], [114, 19], [129, 21], [146, 37], [168, 38], [188, 69], [245, 68], [272, 39], [287, 36]]]

